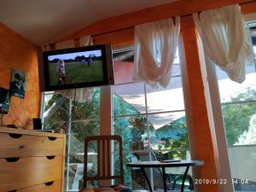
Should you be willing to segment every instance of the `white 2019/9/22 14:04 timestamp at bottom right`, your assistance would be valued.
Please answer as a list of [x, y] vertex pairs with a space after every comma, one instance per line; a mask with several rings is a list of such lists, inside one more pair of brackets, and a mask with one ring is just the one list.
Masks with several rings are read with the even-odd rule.
[[[225, 178], [195, 178], [195, 184], [226, 184], [228, 182]], [[247, 184], [248, 179], [232, 178], [234, 184]]]

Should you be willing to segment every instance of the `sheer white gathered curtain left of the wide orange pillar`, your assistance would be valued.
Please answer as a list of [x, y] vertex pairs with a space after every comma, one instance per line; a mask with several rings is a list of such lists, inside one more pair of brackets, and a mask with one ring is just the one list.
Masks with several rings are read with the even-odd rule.
[[179, 29], [179, 17], [135, 26], [133, 80], [163, 87], [170, 83]]

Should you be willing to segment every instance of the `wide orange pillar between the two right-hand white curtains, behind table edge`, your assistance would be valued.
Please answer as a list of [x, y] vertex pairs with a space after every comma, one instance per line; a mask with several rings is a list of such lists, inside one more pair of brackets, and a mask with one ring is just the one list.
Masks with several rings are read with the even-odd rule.
[[[204, 166], [193, 168], [194, 178], [201, 179], [196, 183], [197, 192], [218, 192], [218, 184], [205, 183], [203, 179], [217, 179], [217, 163], [214, 150], [209, 119], [207, 116], [207, 102], [201, 76], [200, 57], [197, 47], [197, 36], [192, 16], [182, 18], [181, 33], [183, 36], [183, 54], [185, 63], [183, 72], [187, 86], [186, 103], [187, 119], [189, 123], [189, 144], [192, 160], [203, 160]], [[199, 181], [199, 180], [198, 180]], [[213, 181], [213, 180], [212, 180]], [[205, 184], [204, 184], [205, 183]]]

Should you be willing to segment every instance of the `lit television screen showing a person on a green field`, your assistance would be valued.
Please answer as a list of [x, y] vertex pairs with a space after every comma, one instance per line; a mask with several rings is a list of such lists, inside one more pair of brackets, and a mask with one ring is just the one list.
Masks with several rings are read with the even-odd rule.
[[102, 50], [48, 55], [49, 86], [104, 80]]

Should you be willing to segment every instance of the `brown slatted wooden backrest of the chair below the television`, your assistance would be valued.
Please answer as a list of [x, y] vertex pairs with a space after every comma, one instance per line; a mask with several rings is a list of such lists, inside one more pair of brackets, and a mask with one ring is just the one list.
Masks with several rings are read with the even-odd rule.
[[[119, 174], [112, 175], [111, 172], [111, 143], [116, 141], [119, 144]], [[88, 176], [88, 149], [90, 142], [96, 142], [97, 150], [97, 172], [96, 177]], [[119, 183], [124, 184], [123, 170], [123, 144], [120, 136], [91, 136], [84, 139], [84, 188], [88, 181], [119, 179]]]

